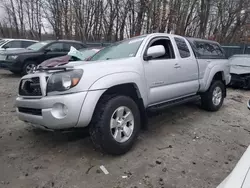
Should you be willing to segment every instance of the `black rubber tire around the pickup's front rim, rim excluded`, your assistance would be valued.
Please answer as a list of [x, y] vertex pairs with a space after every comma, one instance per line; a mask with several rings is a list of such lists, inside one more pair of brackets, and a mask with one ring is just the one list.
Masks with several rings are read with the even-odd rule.
[[[117, 142], [112, 136], [110, 121], [119, 107], [129, 108], [134, 117], [134, 129], [129, 139]], [[121, 155], [131, 149], [140, 131], [140, 111], [137, 104], [128, 96], [103, 96], [96, 106], [90, 125], [90, 136], [95, 147], [111, 155]]]

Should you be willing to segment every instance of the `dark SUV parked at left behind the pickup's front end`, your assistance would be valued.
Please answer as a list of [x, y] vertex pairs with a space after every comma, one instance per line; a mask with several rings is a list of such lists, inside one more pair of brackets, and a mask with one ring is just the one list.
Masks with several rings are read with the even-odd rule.
[[25, 75], [47, 59], [66, 55], [71, 46], [76, 49], [86, 48], [83, 43], [72, 40], [42, 41], [26, 49], [0, 53], [0, 67]]

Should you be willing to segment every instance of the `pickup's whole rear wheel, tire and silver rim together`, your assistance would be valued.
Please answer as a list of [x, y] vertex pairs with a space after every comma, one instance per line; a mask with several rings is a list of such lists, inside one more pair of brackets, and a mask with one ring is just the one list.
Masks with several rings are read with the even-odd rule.
[[210, 88], [201, 94], [201, 106], [208, 111], [218, 111], [225, 98], [226, 87], [222, 81], [212, 82]]

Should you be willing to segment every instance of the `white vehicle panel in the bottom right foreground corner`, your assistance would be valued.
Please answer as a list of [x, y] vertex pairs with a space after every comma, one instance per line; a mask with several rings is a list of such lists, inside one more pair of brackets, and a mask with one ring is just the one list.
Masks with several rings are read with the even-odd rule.
[[236, 167], [217, 188], [250, 187], [250, 146], [245, 151]]

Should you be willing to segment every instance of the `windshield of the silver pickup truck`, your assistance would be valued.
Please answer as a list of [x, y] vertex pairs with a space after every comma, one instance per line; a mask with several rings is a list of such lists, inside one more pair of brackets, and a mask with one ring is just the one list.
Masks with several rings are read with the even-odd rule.
[[144, 39], [145, 36], [140, 36], [116, 42], [96, 53], [89, 61], [134, 57]]

